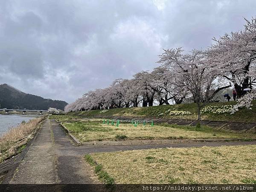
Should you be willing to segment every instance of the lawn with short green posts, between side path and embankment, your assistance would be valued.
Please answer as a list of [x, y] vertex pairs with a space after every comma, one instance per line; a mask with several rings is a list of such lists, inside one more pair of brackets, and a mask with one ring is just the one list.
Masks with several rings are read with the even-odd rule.
[[255, 134], [233, 133], [217, 131], [207, 126], [196, 128], [195, 126], [169, 125], [131, 125], [121, 123], [115, 125], [102, 124], [97, 121], [66, 122], [64, 126], [80, 142], [102, 140], [157, 140], [157, 139], [209, 139], [209, 138], [256, 138]]

